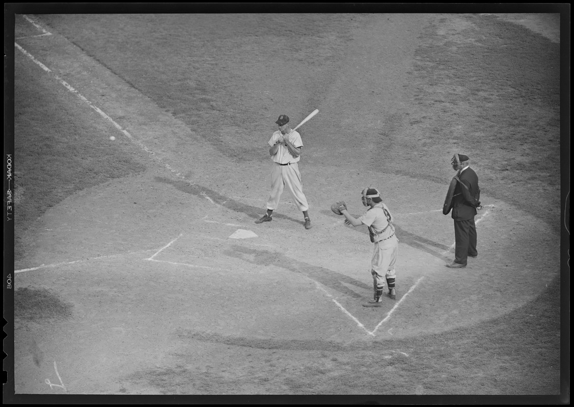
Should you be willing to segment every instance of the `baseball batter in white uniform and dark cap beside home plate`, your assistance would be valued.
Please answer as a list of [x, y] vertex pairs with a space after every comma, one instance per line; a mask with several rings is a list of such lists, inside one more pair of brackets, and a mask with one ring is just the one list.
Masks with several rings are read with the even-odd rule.
[[301, 173], [298, 162], [301, 159], [301, 149], [303, 142], [301, 135], [289, 127], [289, 117], [281, 115], [275, 122], [279, 130], [273, 133], [269, 139], [269, 154], [273, 161], [271, 170], [271, 193], [267, 199], [267, 213], [261, 219], [255, 221], [256, 224], [270, 222], [273, 220], [273, 211], [279, 205], [279, 198], [285, 186], [293, 195], [295, 205], [303, 213], [305, 218], [305, 229], [311, 229], [311, 219], [309, 218], [309, 205], [303, 193]]

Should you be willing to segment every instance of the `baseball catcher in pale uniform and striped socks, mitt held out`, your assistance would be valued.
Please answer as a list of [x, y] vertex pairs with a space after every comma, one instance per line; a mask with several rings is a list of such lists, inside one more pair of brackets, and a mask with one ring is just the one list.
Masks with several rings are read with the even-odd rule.
[[[367, 225], [371, 242], [374, 243], [373, 259], [371, 259], [371, 275], [373, 275], [373, 300], [363, 307], [381, 307], [382, 295], [385, 290], [385, 280], [389, 292], [387, 295], [395, 300], [395, 263], [398, 255], [398, 239], [395, 236], [393, 216], [383, 203], [381, 194], [374, 188], [365, 188], [361, 199], [363, 205], [369, 207], [359, 218], [351, 216], [344, 202], [333, 204], [333, 212], [344, 215], [347, 225]], [[384, 277], [383, 277], [384, 276]]]

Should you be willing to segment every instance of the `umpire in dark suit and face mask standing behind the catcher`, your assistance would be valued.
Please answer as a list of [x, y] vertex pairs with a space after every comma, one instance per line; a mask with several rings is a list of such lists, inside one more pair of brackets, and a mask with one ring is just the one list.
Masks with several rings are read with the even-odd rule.
[[452, 195], [452, 218], [455, 221], [455, 261], [446, 266], [449, 268], [464, 268], [468, 256], [476, 257], [476, 225], [474, 217], [476, 208], [480, 206], [480, 189], [478, 176], [468, 166], [469, 158], [464, 154], [452, 157], [452, 169], [455, 175], [456, 187]]

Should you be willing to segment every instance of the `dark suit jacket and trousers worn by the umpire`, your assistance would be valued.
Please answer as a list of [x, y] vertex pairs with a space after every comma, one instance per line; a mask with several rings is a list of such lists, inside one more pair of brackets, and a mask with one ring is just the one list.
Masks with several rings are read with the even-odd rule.
[[476, 251], [476, 226], [474, 217], [476, 208], [471, 204], [475, 202], [474, 197], [479, 190], [478, 176], [470, 167], [459, 173], [459, 179], [464, 182], [456, 183], [452, 198], [452, 218], [455, 220], [455, 263], [467, 264], [468, 256], [477, 256]]

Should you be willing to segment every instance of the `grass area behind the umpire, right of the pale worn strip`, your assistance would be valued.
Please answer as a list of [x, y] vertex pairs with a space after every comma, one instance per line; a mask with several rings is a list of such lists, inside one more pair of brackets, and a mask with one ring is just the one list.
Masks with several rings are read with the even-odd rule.
[[494, 17], [471, 21], [464, 32], [476, 41], [441, 42], [440, 20], [425, 29], [429, 45], [417, 49], [410, 72], [416, 141], [397, 137], [395, 150], [419, 156], [413, 175], [441, 182], [433, 160], [444, 140], [467, 146], [485, 193], [530, 208], [558, 231], [560, 45]]

